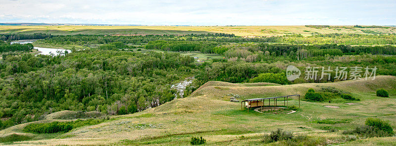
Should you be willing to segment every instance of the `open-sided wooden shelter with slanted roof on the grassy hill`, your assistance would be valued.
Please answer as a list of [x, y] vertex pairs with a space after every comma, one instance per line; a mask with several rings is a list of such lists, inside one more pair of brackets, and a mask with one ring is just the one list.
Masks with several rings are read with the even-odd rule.
[[271, 100], [274, 102], [273, 106], [274, 109], [275, 107], [278, 105], [278, 98], [283, 98], [283, 105], [288, 107], [289, 106], [289, 97], [297, 97], [298, 96], [298, 107], [300, 107], [300, 95], [290, 95], [290, 96], [283, 96], [283, 97], [268, 97], [268, 98], [254, 98], [254, 99], [246, 99], [241, 101], [241, 108], [242, 110], [244, 110], [244, 105], [245, 107], [247, 107], [247, 112], [249, 112], [249, 108], [250, 107], [258, 107], [258, 106], [265, 106], [264, 102], [266, 102], [266, 100], [268, 100], [268, 106], [272, 106], [271, 105]]

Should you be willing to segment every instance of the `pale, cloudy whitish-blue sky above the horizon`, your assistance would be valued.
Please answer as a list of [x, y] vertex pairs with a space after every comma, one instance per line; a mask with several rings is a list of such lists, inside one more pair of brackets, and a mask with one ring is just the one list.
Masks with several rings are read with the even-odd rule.
[[0, 0], [0, 23], [396, 25], [396, 0]]

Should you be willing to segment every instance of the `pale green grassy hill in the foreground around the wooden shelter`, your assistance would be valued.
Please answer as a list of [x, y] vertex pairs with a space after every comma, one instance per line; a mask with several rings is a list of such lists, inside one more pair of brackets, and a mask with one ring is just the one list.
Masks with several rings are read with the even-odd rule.
[[[255, 86], [252, 86], [255, 85]], [[309, 89], [334, 87], [360, 98], [360, 105], [345, 102], [301, 101], [301, 108], [293, 114], [265, 114], [241, 110], [240, 102], [229, 101], [229, 94], [240, 99], [301, 94]], [[390, 97], [376, 97], [375, 90], [385, 88]], [[396, 77], [377, 76], [375, 80], [342, 81], [295, 85], [232, 84], [208, 82], [190, 97], [175, 99], [155, 108], [130, 115], [113, 116], [111, 120], [94, 126], [77, 128], [68, 133], [35, 141], [16, 142], [17, 145], [189, 145], [192, 136], [202, 136], [206, 145], [263, 145], [262, 136], [277, 128], [314, 138], [326, 139], [329, 144], [354, 146], [396, 145], [396, 137], [370, 138], [347, 142], [343, 130], [363, 124], [367, 117], [389, 120], [396, 127]], [[297, 98], [289, 105], [297, 105]], [[340, 108], [327, 108], [335, 105]], [[318, 122], [326, 120], [330, 122]], [[48, 122], [48, 121], [39, 121]], [[0, 137], [17, 133], [26, 124], [0, 131]], [[340, 131], [327, 132], [334, 127]], [[41, 135], [36, 135], [39, 137]], [[36, 138], [38, 139], [38, 138]], [[11, 143], [5, 143], [11, 144]], [[15, 144], [13, 144], [15, 145]]]

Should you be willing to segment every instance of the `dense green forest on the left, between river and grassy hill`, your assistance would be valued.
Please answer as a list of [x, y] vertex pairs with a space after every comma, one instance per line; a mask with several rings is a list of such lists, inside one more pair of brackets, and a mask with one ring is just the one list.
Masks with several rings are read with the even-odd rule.
[[3, 127], [60, 110], [133, 113], [172, 100], [173, 81], [196, 65], [178, 53], [75, 50], [65, 55], [8, 55], [0, 62]]

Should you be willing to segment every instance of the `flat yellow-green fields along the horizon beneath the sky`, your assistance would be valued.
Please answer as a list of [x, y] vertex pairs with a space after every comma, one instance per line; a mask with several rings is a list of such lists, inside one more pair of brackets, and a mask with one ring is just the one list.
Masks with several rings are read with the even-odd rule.
[[34, 34], [52, 35], [113, 35], [113, 34], [207, 34], [226, 33], [237, 36], [280, 36], [315, 33], [353, 33], [353, 34], [395, 34], [396, 27], [355, 28], [353, 26], [330, 26], [314, 28], [306, 26], [0, 26], [0, 34]]

